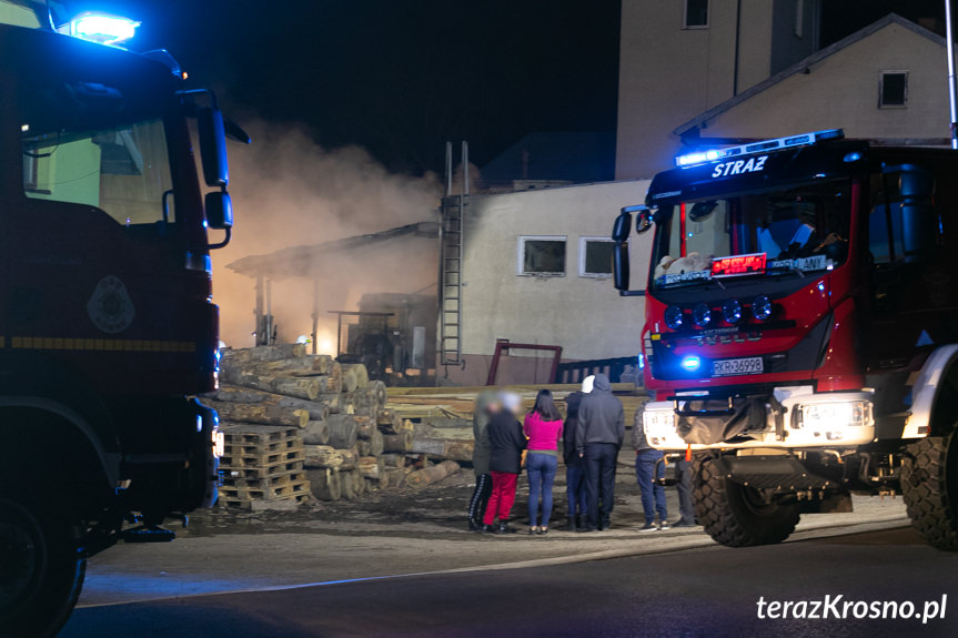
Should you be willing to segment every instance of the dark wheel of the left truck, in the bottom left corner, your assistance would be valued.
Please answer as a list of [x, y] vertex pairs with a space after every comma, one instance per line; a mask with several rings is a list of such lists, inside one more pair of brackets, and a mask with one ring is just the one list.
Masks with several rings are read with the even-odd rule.
[[85, 568], [69, 520], [0, 498], [0, 627], [4, 636], [56, 636], [77, 604]]

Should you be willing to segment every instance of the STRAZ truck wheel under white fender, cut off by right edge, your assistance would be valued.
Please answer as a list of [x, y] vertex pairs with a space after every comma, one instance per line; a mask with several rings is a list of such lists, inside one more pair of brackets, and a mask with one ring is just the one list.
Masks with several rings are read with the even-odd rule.
[[958, 431], [907, 447], [901, 494], [911, 526], [928, 545], [958, 551]]

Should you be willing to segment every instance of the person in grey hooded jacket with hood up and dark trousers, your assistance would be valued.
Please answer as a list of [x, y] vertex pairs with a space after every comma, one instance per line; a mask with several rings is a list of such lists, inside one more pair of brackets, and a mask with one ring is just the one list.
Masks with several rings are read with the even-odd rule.
[[[625, 411], [604, 374], [578, 407], [575, 447], [585, 460], [586, 524], [581, 531], [608, 529], [615, 498], [615, 466], [625, 438]], [[599, 506], [602, 512], [599, 512]]]

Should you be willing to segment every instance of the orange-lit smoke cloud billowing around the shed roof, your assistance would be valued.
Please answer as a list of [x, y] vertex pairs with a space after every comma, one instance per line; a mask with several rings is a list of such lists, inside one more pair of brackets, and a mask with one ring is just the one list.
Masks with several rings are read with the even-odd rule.
[[[326, 151], [305, 131], [288, 125], [244, 122], [244, 128], [253, 144], [230, 146], [233, 240], [212, 255], [221, 338], [232, 347], [254, 343], [255, 280], [228, 264], [291, 246], [435, 221], [442, 194], [436, 175], [390, 173], [363, 149]], [[437, 253], [435, 240], [419, 239], [331, 255], [319, 283], [320, 352], [334, 354], [335, 350], [335, 315], [326, 311], [357, 310], [364, 293], [435, 294]], [[280, 341], [312, 332], [312, 305], [311, 277], [273, 281], [272, 311]]]

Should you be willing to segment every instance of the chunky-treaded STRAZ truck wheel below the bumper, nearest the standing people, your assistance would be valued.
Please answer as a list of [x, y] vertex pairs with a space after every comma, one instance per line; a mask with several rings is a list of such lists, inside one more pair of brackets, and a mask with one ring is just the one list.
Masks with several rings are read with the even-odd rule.
[[720, 476], [708, 458], [695, 465], [695, 515], [716, 541], [728, 547], [772, 545], [795, 530], [797, 505], [766, 503], [757, 489]]

